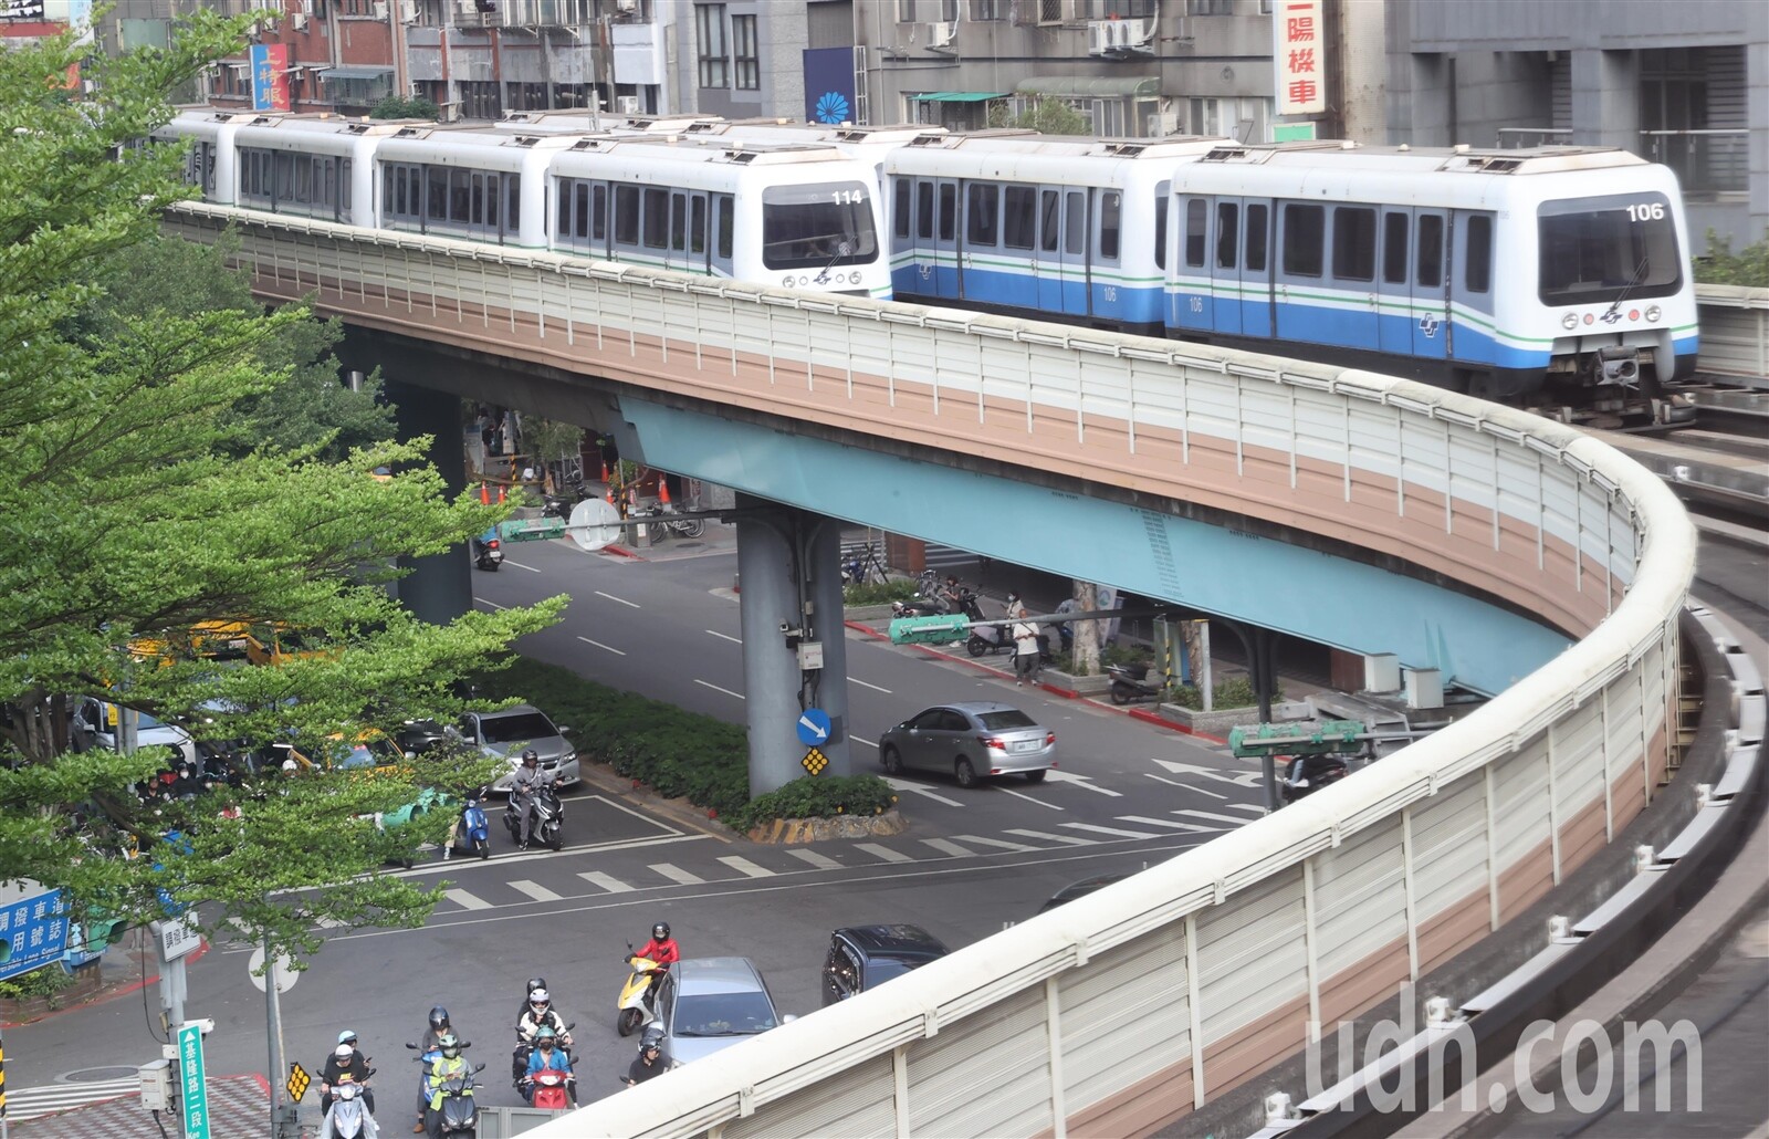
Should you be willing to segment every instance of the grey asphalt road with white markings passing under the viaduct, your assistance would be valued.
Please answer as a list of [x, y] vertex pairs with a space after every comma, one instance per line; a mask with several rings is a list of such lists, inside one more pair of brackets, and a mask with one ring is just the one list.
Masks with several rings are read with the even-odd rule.
[[[596, 681], [743, 722], [732, 552], [630, 561], [566, 543], [515, 547], [504, 570], [476, 573], [481, 605], [568, 592], [564, 621], [520, 649]], [[1007, 660], [1001, 658], [1007, 665]], [[283, 994], [285, 1056], [310, 1072], [338, 1029], [356, 1029], [379, 1068], [382, 1123], [405, 1118], [416, 1040], [446, 1005], [486, 1070], [486, 1104], [518, 1104], [508, 1081], [511, 1026], [527, 976], [545, 976], [577, 1022], [582, 1098], [619, 1089], [633, 1042], [614, 1029], [628, 941], [667, 920], [688, 957], [747, 955], [782, 1013], [821, 1001], [828, 930], [913, 921], [959, 948], [1033, 914], [1061, 886], [1125, 874], [1258, 817], [1258, 769], [1221, 745], [1067, 700], [961, 660], [849, 633], [854, 769], [876, 771], [876, 741], [920, 707], [1005, 699], [1058, 734], [1061, 769], [1031, 785], [962, 791], [950, 780], [899, 780], [909, 829], [872, 842], [755, 845], [693, 826], [605, 789], [566, 798], [566, 849], [515, 852], [494, 821], [494, 858], [433, 861], [402, 872], [448, 893], [417, 930], [336, 930]], [[1003, 674], [1005, 676], [1005, 674]], [[782, 715], [791, 715], [782, 709]], [[214, 1017], [209, 1070], [265, 1070], [265, 1001], [249, 946], [216, 946], [189, 967], [188, 1013]], [[143, 999], [143, 996], [147, 999]], [[7, 1033], [9, 1088], [71, 1072], [154, 1059], [145, 1005], [154, 987]], [[310, 1093], [308, 1102], [313, 1102]]]

